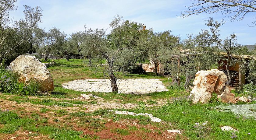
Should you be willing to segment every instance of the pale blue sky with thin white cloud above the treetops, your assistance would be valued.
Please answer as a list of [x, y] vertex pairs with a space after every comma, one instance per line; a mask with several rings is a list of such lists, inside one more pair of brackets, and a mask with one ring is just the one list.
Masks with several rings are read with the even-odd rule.
[[256, 27], [249, 27], [253, 21], [253, 14], [248, 14], [244, 20], [231, 22], [221, 12], [215, 14], [200, 14], [186, 18], [181, 15], [190, 0], [17, 0], [18, 9], [10, 12], [14, 20], [23, 18], [23, 5], [43, 9], [42, 23], [45, 30], [52, 26], [59, 28], [66, 34], [84, 30], [84, 25], [109, 29], [109, 23], [116, 14], [124, 19], [143, 23], [146, 28], [154, 31], [172, 30], [173, 35], [181, 35], [185, 39], [187, 34], [198, 34], [201, 29], [208, 29], [203, 19], [213, 17], [215, 20], [225, 19], [227, 23], [220, 29], [224, 39], [231, 33], [237, 34], [238, 43], [242, 45], [256, 43]]

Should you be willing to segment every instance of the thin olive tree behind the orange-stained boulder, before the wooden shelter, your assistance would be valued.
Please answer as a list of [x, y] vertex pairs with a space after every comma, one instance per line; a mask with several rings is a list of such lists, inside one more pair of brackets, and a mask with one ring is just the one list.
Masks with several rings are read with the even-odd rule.
[[[248, 54], [248, 49], [245, 46], [238, 44], [235, 33], [232, 33], [229, 37], [226, 37], [225, 40], [222, 40], [220, 38], [219, 28], [223, 24], [225, 24], [225, 21], [223, 20], [218, 22], [214, 21], [213, 18], [207, 19], [206, 26], [210, 27], [210, 29], [202, 30], [202, 32], [196, 36], [196, 41], [197, 45], [202, 49], [201, 53], [207, 53], [210, 52], [209, 49], [215, 49], [214, 51], [211, 51], [211, 54], [214, 54], [213, 56], [215, 56], [215, 58], [221, 58], [221, 65], [224, 65], [226, 68], [225, 71], [228, 77], [227, 84], [231, 84], [233, 74], [230, 72], [229, 68], [236, 63], [239, 63], [239, 71], [245, 72], [246, 62], [242, 55]], [[216, 48], [218, 48], [219, 51]], [[237, 57], [234, 57], [233, 55], [236, 55]]]

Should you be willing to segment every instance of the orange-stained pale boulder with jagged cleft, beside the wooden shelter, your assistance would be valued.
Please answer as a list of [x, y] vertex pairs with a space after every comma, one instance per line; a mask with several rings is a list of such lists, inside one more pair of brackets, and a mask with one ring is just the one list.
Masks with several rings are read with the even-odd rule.
[[227, 76], [218, 69], [198, 71], [194, 79], [194, 87], [191, 90], [193, 103], [208, 103], [212, 93], [216, 93], [222, 102], [234, 103], [235, 94], [230, 93], [230, 86], [226, 85]]

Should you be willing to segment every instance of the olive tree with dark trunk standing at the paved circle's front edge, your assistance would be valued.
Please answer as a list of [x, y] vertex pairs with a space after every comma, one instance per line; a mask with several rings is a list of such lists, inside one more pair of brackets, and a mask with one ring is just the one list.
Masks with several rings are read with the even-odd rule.
[[110, 23], [110, 27], [112, 30], [108, 35], [104, 29], [86, 29], [83, 46], [106, 59], [108, 66], [103, 73], [111, 81], [112, 91], [117, 92], [115, 72], [119, 68], [116, 64], [123, 57], [123, 51], [134, 47], [139, 31], [142, 30], [142, 24], [124, 21], [122, 17], [117, 16]]

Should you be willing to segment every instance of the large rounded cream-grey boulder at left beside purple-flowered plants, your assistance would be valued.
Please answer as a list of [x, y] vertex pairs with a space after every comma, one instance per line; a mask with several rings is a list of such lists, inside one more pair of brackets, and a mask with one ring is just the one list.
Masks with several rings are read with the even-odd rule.
[[53, 91], [54, 84], [50, 72], [44, 63], [34, 56], [20, 55], [6, 68], [19, 76], [21, 82], [35, 80], [41, 85], [41, 92]]

